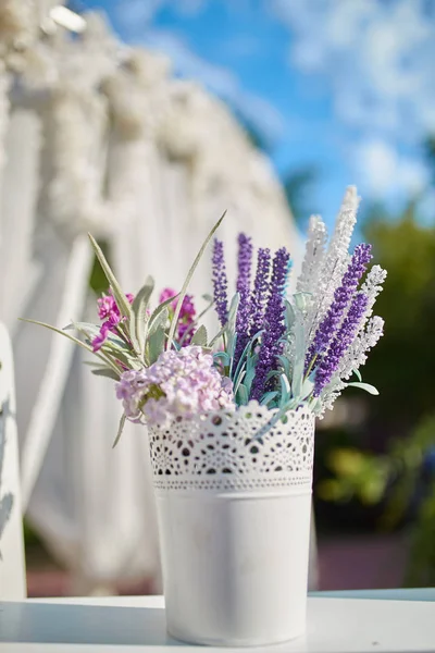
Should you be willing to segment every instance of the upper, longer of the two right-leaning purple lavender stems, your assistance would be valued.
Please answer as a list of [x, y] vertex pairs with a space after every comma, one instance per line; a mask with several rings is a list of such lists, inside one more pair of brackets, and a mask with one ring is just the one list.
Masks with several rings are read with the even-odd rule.
[[363, 275], [369, 261], [372, 258], [371, 245], [362, 243], [357, 245], [347, 271], [345, 272], [341, 285], [334, 293], [334, 300], [325, 318], [321, 322], [315, 333], [313, 343], [306, 357], [306, 372], [315, 355], [326, 352], [339, 323], [343, 319], [345, 309], [356, 292], [361, 276]]

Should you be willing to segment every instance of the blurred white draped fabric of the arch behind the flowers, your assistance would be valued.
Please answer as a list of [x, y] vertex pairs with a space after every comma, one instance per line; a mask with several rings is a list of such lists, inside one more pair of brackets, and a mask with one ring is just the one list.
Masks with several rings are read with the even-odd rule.
[[[35, 38], [20, 70], [3, 58], [0, 311], [16, 359], [24, 503], [79, 591], [140, 575], [158, 589], [145, 430], [129, 424], [113, 452], [121, 407], [110, 382], [66, 340], [16, 318], [95, 318], [87, 231], [109, 244], [133, 293], [149, 273], [158, 288], [179, 289], [224, 210], [233, 273], [239, 231], [286, 245], [296, 266], [299, 236], [266, 159], [229, 111], [171, 78], [162, 58], [121, 48], [101, 19], [88, 16], [79, 39], [59, 29]], [[210, 292], [208, 270], [204, 260], [196, 294]]]

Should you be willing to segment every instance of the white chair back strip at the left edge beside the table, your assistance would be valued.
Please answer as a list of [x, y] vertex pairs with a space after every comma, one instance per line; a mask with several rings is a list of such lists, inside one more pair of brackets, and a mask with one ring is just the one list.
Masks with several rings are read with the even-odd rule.
[[0, 601], [26, 596], [13, 358], [0, 324]]

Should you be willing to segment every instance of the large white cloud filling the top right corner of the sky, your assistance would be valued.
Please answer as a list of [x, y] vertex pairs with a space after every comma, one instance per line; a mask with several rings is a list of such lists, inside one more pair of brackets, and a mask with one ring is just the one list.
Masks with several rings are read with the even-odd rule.
[[402, 140], [434, 128], [435, 23], [424, 0], [272, 0], [289, 62], [330, 79], [337, 115]]

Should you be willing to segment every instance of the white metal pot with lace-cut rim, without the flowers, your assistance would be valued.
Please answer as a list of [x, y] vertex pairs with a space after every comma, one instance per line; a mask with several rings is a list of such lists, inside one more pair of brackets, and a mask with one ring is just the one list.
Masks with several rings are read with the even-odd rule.
[[250, 403], [150, 429], [167, 630], [224, 646], [306, 627], [314, 417]]

